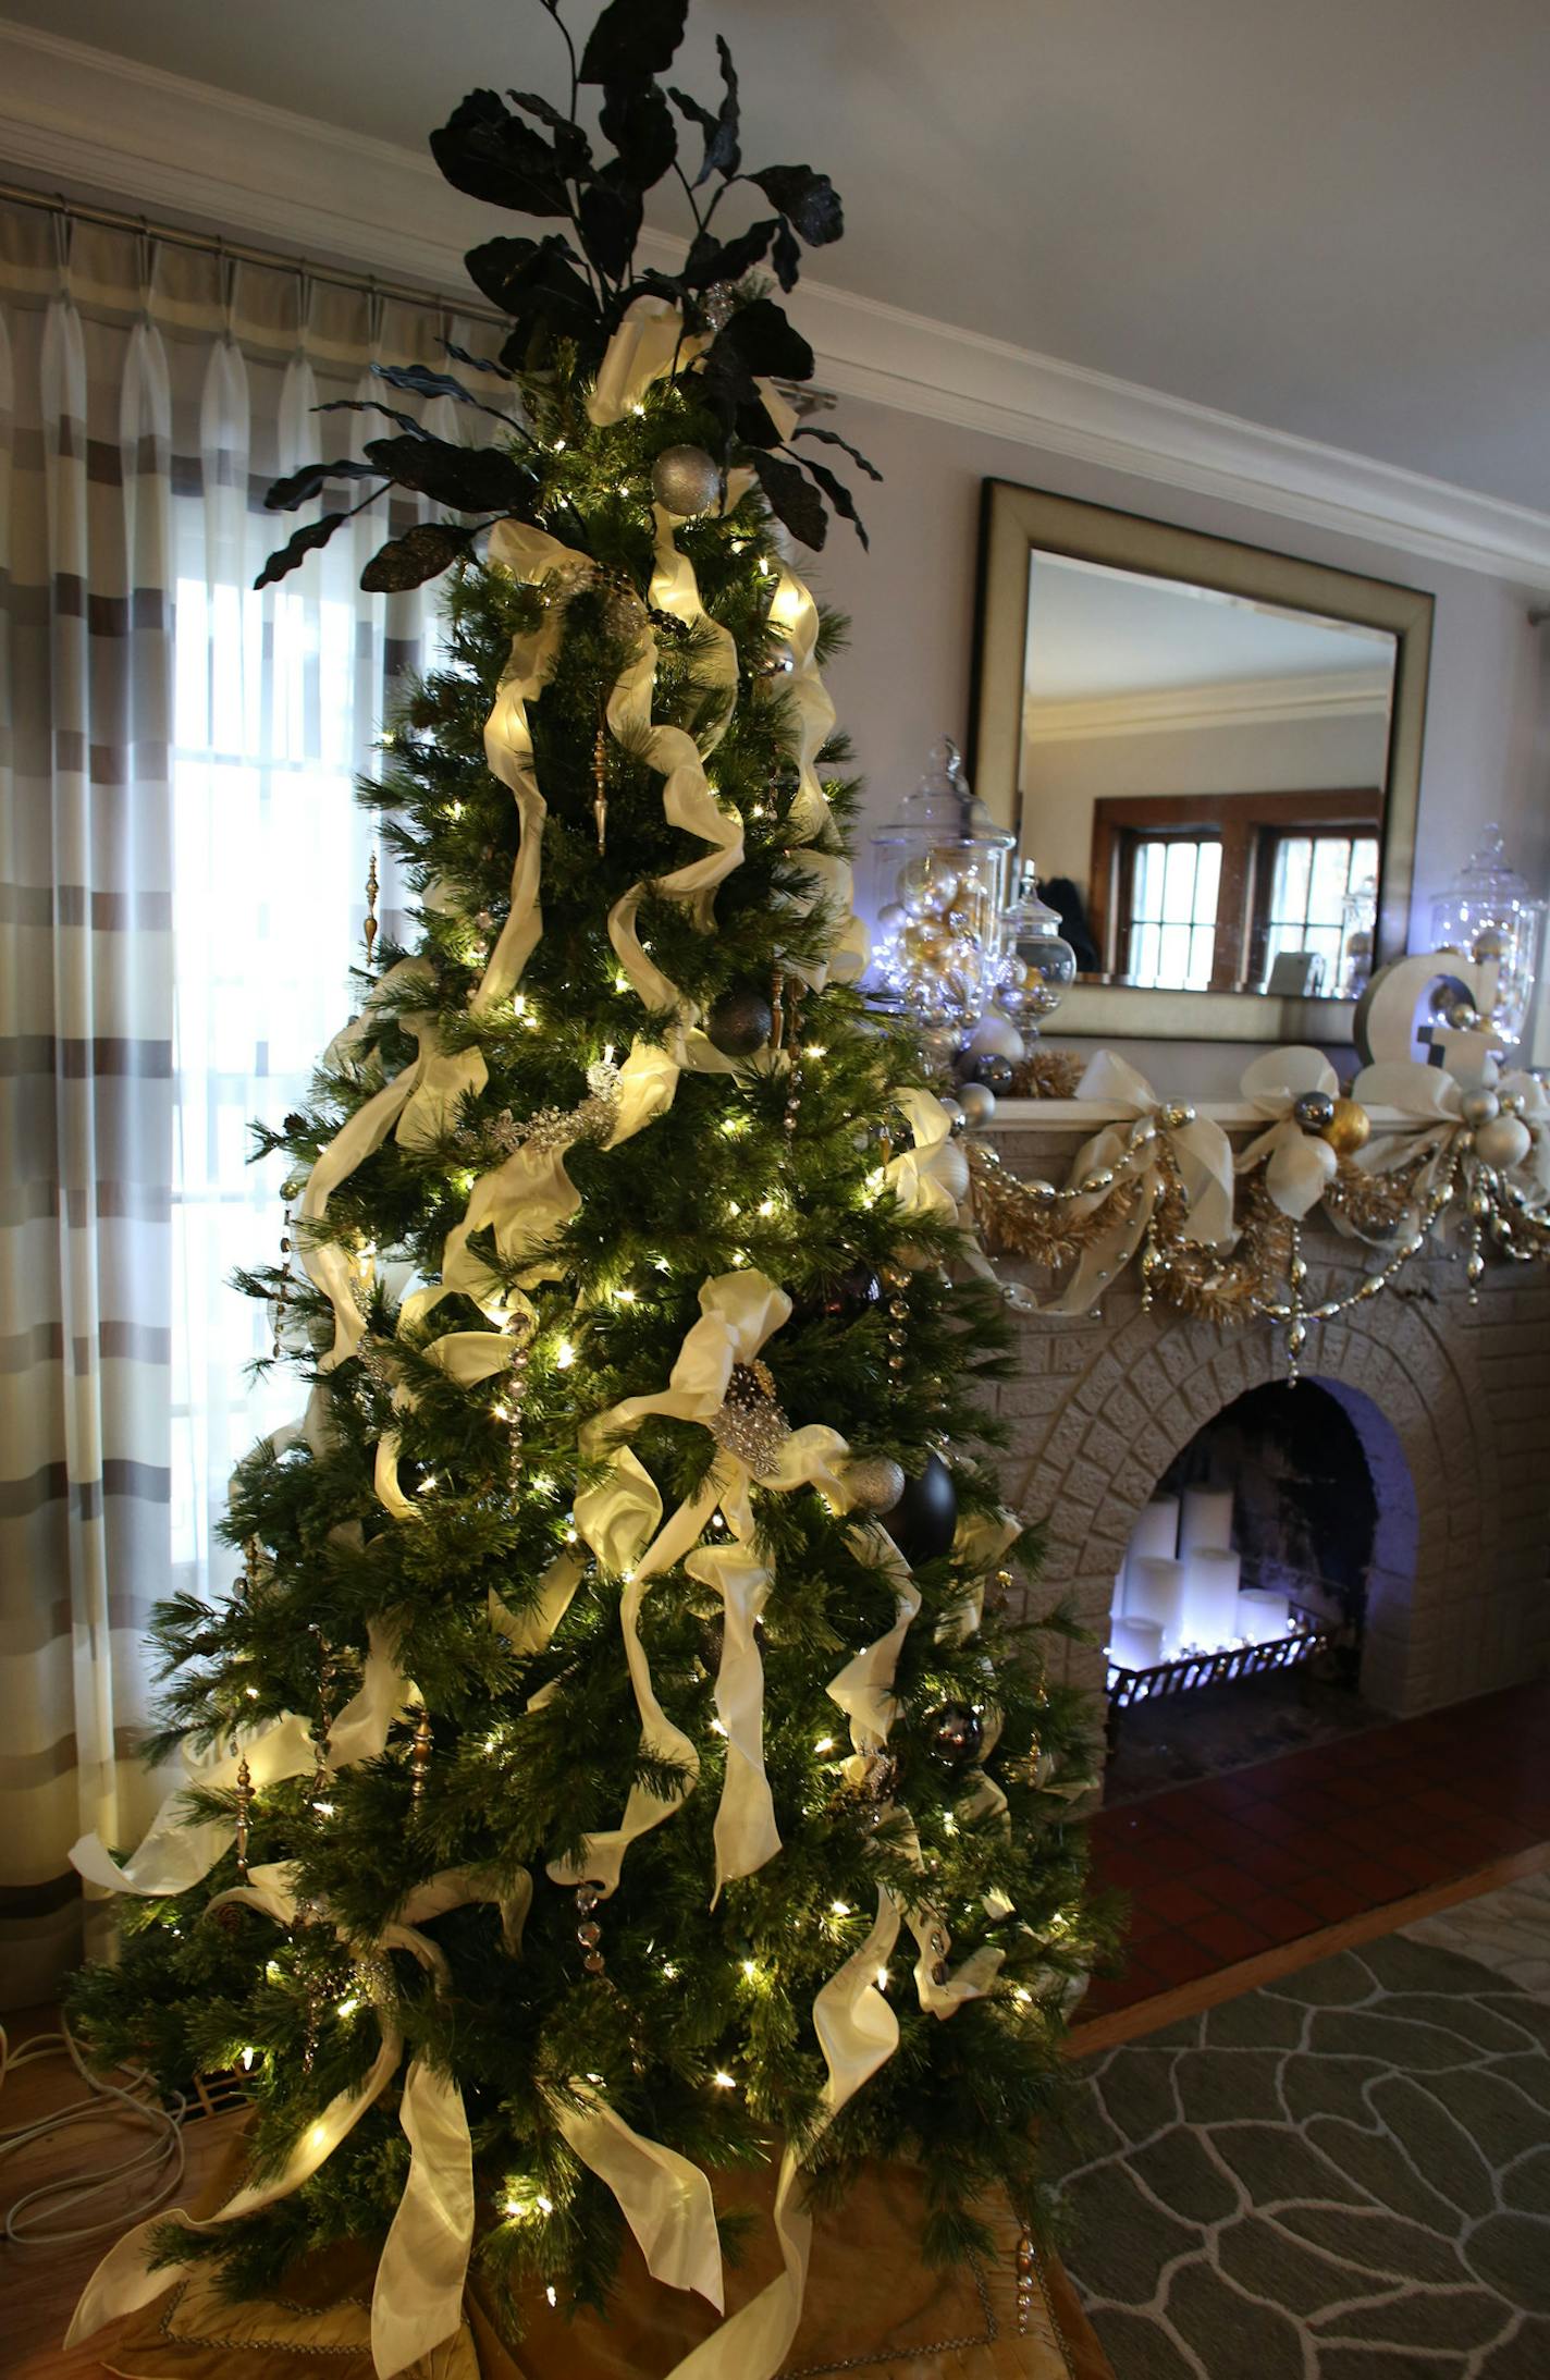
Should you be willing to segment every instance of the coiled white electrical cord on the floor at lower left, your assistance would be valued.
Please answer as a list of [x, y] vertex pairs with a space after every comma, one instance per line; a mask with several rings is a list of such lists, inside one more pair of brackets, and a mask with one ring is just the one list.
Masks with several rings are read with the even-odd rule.
[[[69, 2106], [55, 2109], [50, 2116], [0, 2130], [0, 2159], [14, 2156], [19, 2149], [31, 2147], [31, 2142], [67, 2132], [79, 2123], [131, 2123], [150, 2137], [112, 2166], [88, 2166], [86, 2173], [40, 2182], [14, 2199], [5, 2209], [5, 2237], [21, 2244], [55, 2247], [67, 2240], [95, 2240], [105, 2232], [121, 2232], [126, 2221], [143, 2221], [183, 2180], [183, 2116], [188, 2111], [183, 2094], [169, 2092], [162, 2099], [155, 2075], [148, 2075], [138, 2066], [114, 2068], [124, 2075], [121, 2082], [95, 2075], [81, 2056], [69, 2025], [62, 2025], [60, 2033], [36, 2033], [17, 2049], [10, 2047], [5, 2025], [0, 2025], [0, 2090], [19, 2066], [57, 2056], [67, 2056], [86, 2082], [86, 2099], [71, 2099]], [[126, 2187], [136, 2190], [136, 2175], [143, 2178], [140, 2187], [155, 2187], [136, 2206], [126, 2209]], [[114, 2192], [114, 2211], [102, 2216], [100, 2223], [64, 2221], [64, 2216], [71, 2216], [88, 2199], [102, 2197], [105, 2190]]]

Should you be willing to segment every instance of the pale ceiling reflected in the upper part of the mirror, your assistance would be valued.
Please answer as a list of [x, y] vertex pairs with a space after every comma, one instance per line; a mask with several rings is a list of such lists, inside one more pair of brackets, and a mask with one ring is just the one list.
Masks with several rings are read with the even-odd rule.
[[1064, 555], [1029, 569], [1029, 704], [1179, 688], [1360, 681], [1386, 709], [1393, 635]]

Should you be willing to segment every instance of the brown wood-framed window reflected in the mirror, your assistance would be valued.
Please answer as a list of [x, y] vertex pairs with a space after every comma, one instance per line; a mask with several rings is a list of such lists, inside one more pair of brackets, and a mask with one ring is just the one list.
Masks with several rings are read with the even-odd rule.
[[1379, 871], [1376, 788], [1124, 795], [1093, 804], [1090, 919], [1105, 971], [1148, 990], [1260, 990], [1307, 952], [1345, 978], [1343, 904]]

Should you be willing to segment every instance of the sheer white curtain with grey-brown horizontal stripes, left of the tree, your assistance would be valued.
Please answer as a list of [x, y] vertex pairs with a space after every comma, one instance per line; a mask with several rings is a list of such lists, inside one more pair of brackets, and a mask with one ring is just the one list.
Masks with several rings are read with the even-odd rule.
[[[133, 1844], [150, 1606], [229, 1592], [233, 1459], [290, 1418], [226, 1288], [281, 1235], [279, 1119], [350, 1014], [383, 707], [433, 595], [360, 564], [374, 505], [252, 593], [281, 469], [374, 357], [488, 331], [300, 271], [0, 205], [0, 2006], [112, 1947], [69, 1844]], [[440, 436], [457, 407], [429, 412]], [[343, 424], [355, 424], [340, 433]], [[383, 862], [383, 933], [407, 933]]]

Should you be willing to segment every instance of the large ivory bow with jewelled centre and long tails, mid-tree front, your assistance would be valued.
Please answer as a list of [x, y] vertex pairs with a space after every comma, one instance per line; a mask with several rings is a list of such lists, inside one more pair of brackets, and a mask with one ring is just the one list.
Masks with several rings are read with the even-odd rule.
[[[700, 1285], [700, 1321], [686, 1333], [667, 1388], [648, 1397], [624, 1397], [588, 1421], [581, 1433], [583, 1454], [598, 1454], [629, 1435], [648, 1414], [674, 1414], [710, 1426], [726, 1402], [733, 1366], [752, 1364], [764, 1340], [781, 1328], [788, 1314], [790, 1299], [760, 1271], [721, 1273], [705, 1280]], [[817, 1488], [836, 1511], [845, 1511], [850, 1502], [840, 1468], [845, 1454], [845, 1440], [836, 1430], [812, 1423], [786, 1438], [776, 1468], [764, 1473], [760, 1485], [774, 1490]], [[717, 1552], [733, 1552], [731, 1547], [707, 1547], [693, 1566], [695, 1578], [724, 1595], [726, 1609], [717, 1706], [731, 1716], [724, 1721], [729, 1726], [729, 1759], [717, 1811], [717, 1894], [729, 1875], [750, 1875], [779, 1849], [762, 1754], [764, 1671], [752, 1640], [752, 1621], [771, 1580], [752, 1552], [750, 1480], [748, 1464], [721, 1449], [698, 1492], [686, 1497], [662, 1523], [662, 1499], [650, 1473], [629, 1447], [617, 1447], [602, 1485], [576, 1499], [581, 1537], [607, 1571], [626, 1580], [619, 1630], [640, 1711], [640, 1749], [650, 1759], [676, 1766], [681, 1783], [669, 1797], [640, 1785], [631, 1787], [617, 1828], [588, 1835], [579, 1861], [550, 1864], [548, 1873], [555, 1883], [593, 1880], [610, 1894], [619, 1883], [631, 1842], [671, 1818], [686, 1795], [695, 1790], [700, 1754], [693, 1737], [669, 1721], [657, 1699], [640, 1642], [640, 1606], [650, 1580], [698, 1545], [717, 1509], [726, 1514], [736, 1559], [707, 1559]]]

